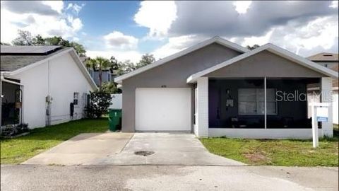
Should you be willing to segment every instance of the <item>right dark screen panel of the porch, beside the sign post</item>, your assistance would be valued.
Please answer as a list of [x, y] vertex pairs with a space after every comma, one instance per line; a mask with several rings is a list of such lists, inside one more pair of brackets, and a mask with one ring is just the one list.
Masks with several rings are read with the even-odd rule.
[[267, 128], [311, 128], [307, 116], [307, 84], [317, 79], [267, 79]]

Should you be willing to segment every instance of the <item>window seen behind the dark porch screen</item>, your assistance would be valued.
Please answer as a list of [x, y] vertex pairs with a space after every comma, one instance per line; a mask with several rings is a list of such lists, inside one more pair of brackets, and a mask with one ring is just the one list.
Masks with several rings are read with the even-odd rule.
[[[265, 93], [263, 88], [238, 89], [239, 115], [264, 115]], [[267, 115], [277, 115], [275, 89], [266, 89]]]

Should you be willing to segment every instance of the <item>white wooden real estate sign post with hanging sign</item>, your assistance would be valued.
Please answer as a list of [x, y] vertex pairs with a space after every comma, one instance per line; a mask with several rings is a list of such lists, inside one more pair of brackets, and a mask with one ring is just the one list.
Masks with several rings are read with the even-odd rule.
[[328, 121], [329, 103], [309, 103], [312, 112], [313, 147], [319, 146], [318, 122]]

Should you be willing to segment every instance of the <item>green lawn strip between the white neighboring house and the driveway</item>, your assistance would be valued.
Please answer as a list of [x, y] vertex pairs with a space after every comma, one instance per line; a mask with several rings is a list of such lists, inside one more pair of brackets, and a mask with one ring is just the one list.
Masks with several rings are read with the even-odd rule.
[[1, 164], [21, 163], [81, 133], [105, 132], [107, 118], [77, 120], [51, 127], [32, 129], [30, 134], [15, 139], [1, 139]]

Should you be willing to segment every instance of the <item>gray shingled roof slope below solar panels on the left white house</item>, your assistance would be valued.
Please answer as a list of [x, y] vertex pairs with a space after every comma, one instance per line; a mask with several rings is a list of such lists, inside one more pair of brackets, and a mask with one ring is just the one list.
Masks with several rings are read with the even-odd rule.
[[[2, 46], [1, 46], [2, 48]], [[49, 54], [13, 54], [7, 55], [1, 53], [1, 69], [0, 71], [15, 71], [16, 69], [23, 68], [30, 64], [34, 64], [35, 62], [39, 62], [40, 60], [47, 59], [48, 57], [52, 57], [59, 52], [63, 52], [65, 50], [69, 50], [72, 47], [61, 47], [59, 50], [56, 50]]]

